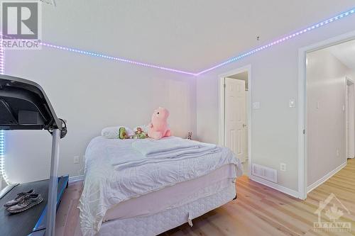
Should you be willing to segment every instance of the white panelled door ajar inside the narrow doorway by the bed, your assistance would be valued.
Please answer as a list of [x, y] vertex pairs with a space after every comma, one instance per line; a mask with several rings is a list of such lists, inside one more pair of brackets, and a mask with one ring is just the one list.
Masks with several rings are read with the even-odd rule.
[[225, 140], [241, 162], [246, 159], [246, 92], [245, 81], [225, 78]]

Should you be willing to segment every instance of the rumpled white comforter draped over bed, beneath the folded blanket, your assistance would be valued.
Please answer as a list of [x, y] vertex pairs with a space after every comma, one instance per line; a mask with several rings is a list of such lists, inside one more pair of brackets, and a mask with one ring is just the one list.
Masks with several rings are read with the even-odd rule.
[[[174, 142], [173, 138], [171, 140]], [[147, 141], [95, 137], [89, 143], [85, 154], [84, 189], [79, 204], [84, 235], [94, 235], [99, 231], [106, 211], [122, 201], [196, 179], [225, 164], [235, 164], [236, 176], [242, 174], [239, 159], [224, 147], [214, 147], [210, 149], [212, 152], [196, 154], [196, 157], [189, 154], [186, 158], [158, 158], [141, 162], [146, 156], [136, 150], [137, 146], [141, 147], [136, 142]], [[212, 147], [204, 147], [207, 146]]]

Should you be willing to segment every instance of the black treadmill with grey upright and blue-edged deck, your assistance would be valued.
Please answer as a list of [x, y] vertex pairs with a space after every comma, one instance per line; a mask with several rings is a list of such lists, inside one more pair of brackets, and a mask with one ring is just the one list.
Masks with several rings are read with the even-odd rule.
[[[0, 74], [0, 130], [48, 130], [52, 135], [50, 179], [9, 186], [0, 193], [0, 235], [55, 235], [55, 214], [69, 180], [69, 176], [58, 176], [59, 141], [67, 134], [65, 120], [57, 117], [38, 84]], [[22, 213], [8, 213], [4, 203], [29, 189], [40, 193], [43, 202]]]

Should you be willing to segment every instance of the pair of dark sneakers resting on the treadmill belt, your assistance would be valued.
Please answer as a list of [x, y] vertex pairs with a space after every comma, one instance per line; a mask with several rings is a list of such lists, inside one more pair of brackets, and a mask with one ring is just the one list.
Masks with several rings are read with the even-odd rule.
[[20, 213], [41, 203], [42, 201], [43, 197], [31, 189], [27, 192], [18, 193], [16, 198], [5, 203], [4, 207], [6, 207], [6, 210], [9, 211], [9, 213]]

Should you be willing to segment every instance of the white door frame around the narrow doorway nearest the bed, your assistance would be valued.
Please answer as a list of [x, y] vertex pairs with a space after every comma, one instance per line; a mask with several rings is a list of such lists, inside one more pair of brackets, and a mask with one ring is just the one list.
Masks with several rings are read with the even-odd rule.
[[241, 72], [248, 72], [248, 102], [249, 102], [249, 109], [246, 109], [247, 113], [247, 120], [248, 120], [248, 172], [251, 175], [251, 64], [248, 64], [244, 67], [239, 67], [238, 69], [233, 69], [229, 72], [224, 74], [218, 75], [218, 82], [219, 82], [219, 122], [218, 122], [218, 144], [221, 146], [225, 146], [225, 133], [226, 133], [226, 120], [225, 120], [225, 92], [224, 92], [224, 78], [230, 77], [234, 74], [239, 74]]

